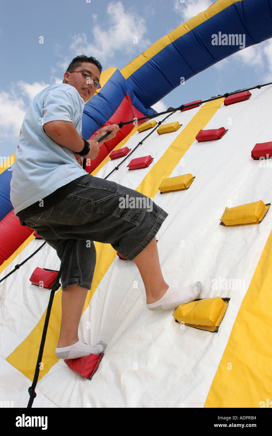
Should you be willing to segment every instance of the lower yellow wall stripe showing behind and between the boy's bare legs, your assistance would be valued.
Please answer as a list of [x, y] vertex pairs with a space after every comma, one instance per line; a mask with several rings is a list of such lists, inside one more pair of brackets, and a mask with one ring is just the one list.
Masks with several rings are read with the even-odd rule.
[[[83, 311], [88, 306], [93, 293], [102, 280], [105, 272], [111, 266], [113, 260], [116, 258], [116, 251], [110, 244], [101, 244], [95, 242], [95, 249], [97, 253], [97, 262], [95, 266], [94, 278], [92, 288], [89, 290]], [[99, 262], [99, 259], [102, 259]], [[37, 293], [41, 292], [37, 288]], [[48, 324], [46, 341], [44, 344], [44, 353], [41, 361], [41, 371], [38, 380], [48, 373], [50, 368], [58, 362], [55, 355], [55, 348], [58, 344], [58, 337], [61, 325], [61, 288], [54, 295], [54, 300], [51, 308], [51, 314]], [[49, 293], [48, 293], [49, 300]], [[31, 381], [34, 377], [34, 372], [37, 363], [38, 352], [41, 344], [41, 335], [44, 328], [46, 310], [31, 333], [20, 345], [7, 357], [7, 361], [22, 372]]]

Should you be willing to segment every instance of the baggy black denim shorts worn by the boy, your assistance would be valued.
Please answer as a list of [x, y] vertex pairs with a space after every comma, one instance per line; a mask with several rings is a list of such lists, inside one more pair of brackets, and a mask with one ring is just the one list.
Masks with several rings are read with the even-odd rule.
[[63, 264], [62, 290], [75, 284], [91, 289], [96, 263], [93, 241], [111, 244], [133, 260], [167, 216], [149, 197], [86, 174], [70, 194], [24, 222], [57, 251]]

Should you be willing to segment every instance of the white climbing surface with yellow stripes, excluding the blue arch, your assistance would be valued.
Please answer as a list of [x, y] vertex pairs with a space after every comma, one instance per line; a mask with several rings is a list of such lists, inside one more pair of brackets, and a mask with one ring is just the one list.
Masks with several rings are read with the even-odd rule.
[[[269, 368], [272, 357], [272, 214], [268, 210], [259, 223], [255, 217], [253, 224], [220, 225], [226, 208], [271, 202], [271, 161], [253, 159], [252, 150], [272, 140], [272, 85], [250, 93], [250, 98], [228, 106], [222, 97], [177, 111], [164, 124], [181, 125], [178, 129], [159, 135], [155, 126], [146, 140], [150, 130], [138, 132], [135, 126], [116, 150], [132, 151], [143, 143], [119, 169], [107, 177], [124, 157], [106, 157], [93, 171], [96, 177], [147, 195], [167, 211], [157, 233], [164, 277], [173, 286], [200, 280], [204, 299], [229, 298], [218, 331], [178, 323], [173, 310], [148, 310], [134, 262], [120, 259], [111, 245], [95, 242], [97, 265], [79, 337], [91, 344], [105, 341], [105, 355], [91, 381], [54, 357], [60, 288], [54, 297], [36, 407], [258, 408], [270, 398], [271, 376], [261, 368]], [[222, 128], [218, 140], [196, 140], [201, 130], [203, 135]], [[147, 167], [129, 170], [132, 159], [146, 156], [153, 158]], [[194, 177], [187, 189], [160, 194], [163, 179], [185, 174]], [[29, 235], [2, 276], [42, 244]], [[22, 407], [28, 401], [50, 294], [31, 285], [29, 278], [36, 267], [58, 269], [59, 263], [46, 244], [2, 283], [0, 362], [10, 376], [6, 389]]]

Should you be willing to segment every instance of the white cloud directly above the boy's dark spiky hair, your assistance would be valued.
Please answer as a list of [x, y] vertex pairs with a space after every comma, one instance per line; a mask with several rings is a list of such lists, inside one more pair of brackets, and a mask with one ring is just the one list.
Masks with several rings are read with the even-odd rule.
[[95, 24], [92, 27], [92, 42], [88, 41], [85, 33], [76, 34], [70, 45], [72, 51], [105, 62], [113, 58], [116, 50], [133, 53], [136, 43], [143, 48], [150, 45], [148, 39], [143, 39], [146, 33], [145, 20], [133, 12], [126, 12], [121, 1], [109, 3], [106, 13], [109, 16], [108, 29], [103, 30], [99, 24]]

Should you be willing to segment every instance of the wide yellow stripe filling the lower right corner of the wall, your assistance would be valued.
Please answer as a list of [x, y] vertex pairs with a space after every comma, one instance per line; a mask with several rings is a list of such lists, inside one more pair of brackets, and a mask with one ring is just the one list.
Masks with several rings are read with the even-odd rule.
[[271, 283], [272, 232], [241, 303], [204, 407], [272, 407]]

